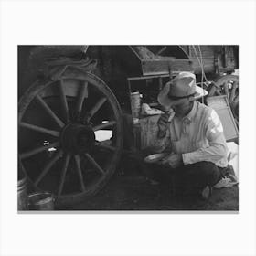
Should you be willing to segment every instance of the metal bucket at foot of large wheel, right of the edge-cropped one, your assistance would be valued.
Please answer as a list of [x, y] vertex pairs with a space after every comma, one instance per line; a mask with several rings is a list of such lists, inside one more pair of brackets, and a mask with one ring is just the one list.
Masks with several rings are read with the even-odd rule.
[[28, 196], [28, 208], [32, 210], [54, 210], [54, 197], [48, 192], [31, 194]]

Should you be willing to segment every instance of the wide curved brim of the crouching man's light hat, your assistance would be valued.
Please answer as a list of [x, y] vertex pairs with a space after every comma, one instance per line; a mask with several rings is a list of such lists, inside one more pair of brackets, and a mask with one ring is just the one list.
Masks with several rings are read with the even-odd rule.
[[[157, 97], [157, 101], [165, 108], [170, 108], [171, 106], [181, 101], [181, 100], [171, 100], [168, 97], [169, 90], [170, 90], [170, 83], [166, 83], [164, 89], [160, 91]], [[208, 91], [196, 85], [196, 93], [192, 99], [197, 100], [207, 95], [208, 95]]]

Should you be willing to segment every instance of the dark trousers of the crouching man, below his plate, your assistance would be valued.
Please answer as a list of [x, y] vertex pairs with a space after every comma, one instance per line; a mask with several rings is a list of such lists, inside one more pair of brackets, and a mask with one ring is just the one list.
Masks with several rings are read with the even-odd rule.
[[211, 162], [198, 162], [173, 169], [157, 164], [145, 164], [144, 174], [162, 184], [172, 186], [176, 194], [197, 194], [207, 186], [214, 186], [222, 177], [222, 170]]

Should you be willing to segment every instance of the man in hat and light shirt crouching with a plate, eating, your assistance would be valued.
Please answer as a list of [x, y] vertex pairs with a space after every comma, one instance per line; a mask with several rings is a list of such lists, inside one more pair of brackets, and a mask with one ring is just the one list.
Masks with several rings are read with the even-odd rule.
[[[210, 196], [211, 187], [228, 165], [228, 147], [218, 114], [195, 101], [206, 94], [197, 87], [194, 74], [179, 73], [158, 95], [166, 112], [157, 122], [158, 152], [170, 153], [158, 164], [175, 176], [176, 193], [196, 193], [203, 198]], [[155, 178], [152, 173], [151, 177]]]

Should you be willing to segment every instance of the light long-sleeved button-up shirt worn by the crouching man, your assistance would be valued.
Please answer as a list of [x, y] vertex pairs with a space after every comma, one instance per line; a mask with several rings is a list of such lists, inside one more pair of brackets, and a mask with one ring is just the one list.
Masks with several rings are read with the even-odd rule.
[[182, 154], [184, 165], [201, 161], [219, 167], [228, 165], [228, 147], [217, 112], [194, 101], [193, 108], [183, 118], [169, 122], [164, 139], [158, 140], [162, 150]]

